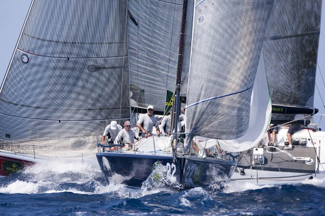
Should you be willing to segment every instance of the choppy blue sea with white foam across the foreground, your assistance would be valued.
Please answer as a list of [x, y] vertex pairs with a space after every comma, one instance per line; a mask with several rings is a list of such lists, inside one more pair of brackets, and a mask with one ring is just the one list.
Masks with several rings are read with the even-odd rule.
[[295, 185], [223, 182], [176, 190], [106, 184], [98, 168], [36, 164], [0, 179], [0, 216], [325, 215], [325, 179]]

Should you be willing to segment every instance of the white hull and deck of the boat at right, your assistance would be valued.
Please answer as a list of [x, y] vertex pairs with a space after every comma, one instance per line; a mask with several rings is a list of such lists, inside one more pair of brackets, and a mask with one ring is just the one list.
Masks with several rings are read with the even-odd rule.
[[[293, 150], [285, 150], [287, 131], [286, 127], [279, 129], [276, 148], [267, 149], [265, 143], [253, 148], [250, 157], [245, 155], [247, 151], [244, 152], [241, 159], [244, 168], [238, 167], [231, 180], [257, 185], [280, 185], [325, 178], [325, 132], [299, 130], [292, 135], [292, 139], [302, 140], [302, 144], [293, 145]], [[263, 154], [264, 160], [260, 164], [254, 161], [257, 152]], [[314, 163], [304, 162], [306, 158], [311, 158]]]

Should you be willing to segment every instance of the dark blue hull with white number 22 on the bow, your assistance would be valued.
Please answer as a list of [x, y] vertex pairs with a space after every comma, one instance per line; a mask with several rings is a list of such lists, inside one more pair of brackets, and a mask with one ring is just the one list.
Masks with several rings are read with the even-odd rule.
[[169, 174], [176, 177], [184, 188], [206, 186], [230, 178], [235, 170], [234, 162], [210, 158], [178, 157], [175, 164], [171, 156], [97, 153], [101, 171], [106, 181], [140, 188], [152, 173], [157, 162], [169, 167]]

